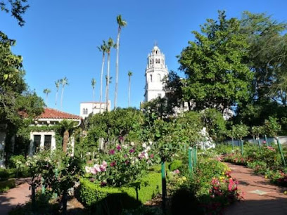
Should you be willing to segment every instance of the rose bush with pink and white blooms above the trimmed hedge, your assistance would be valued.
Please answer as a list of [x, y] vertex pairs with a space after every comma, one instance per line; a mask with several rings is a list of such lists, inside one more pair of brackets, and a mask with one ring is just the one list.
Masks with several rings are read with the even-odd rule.
[[153, 164], [155, 155], [153, 143], [142, 145], [129, 143], [110, 148], [108, 155], [102, 155], [93, 167], [85, 167], [95, 183], [121, 186], [136, 181], [148, 166]]

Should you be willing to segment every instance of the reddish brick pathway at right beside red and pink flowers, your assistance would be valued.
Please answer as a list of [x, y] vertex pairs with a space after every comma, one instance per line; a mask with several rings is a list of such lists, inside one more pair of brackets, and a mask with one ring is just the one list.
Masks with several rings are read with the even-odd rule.
[[231, 169], [231, 176], [239, 182], [238, 188], [244, 193], [244, 201], [232, 204], [224, 214], [287, 214], [287, 195], [283, 194], [287, 188], [272, 185], [264, 176], [253, 174], [252, 169], [227, 164]]

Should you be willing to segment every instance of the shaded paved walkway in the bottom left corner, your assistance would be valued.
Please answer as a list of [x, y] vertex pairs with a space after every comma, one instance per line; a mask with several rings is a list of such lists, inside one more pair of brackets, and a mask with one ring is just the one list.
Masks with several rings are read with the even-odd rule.
[[21, 179], [16, 181], [17, 185], [15, 188], [8, 190], [5, 193], [0, 194], [0, 214], [8, 214], [18, 204], [25, 204], [30, 200], [31, 190], [29, 190], [29, 184]]

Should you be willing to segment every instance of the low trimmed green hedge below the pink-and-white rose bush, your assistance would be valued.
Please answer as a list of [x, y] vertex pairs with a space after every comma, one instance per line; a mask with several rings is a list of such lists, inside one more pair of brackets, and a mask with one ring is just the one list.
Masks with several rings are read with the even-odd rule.
[[[137, 189], [136, 189], [137, 188]], [[136, 190], [138, 197], [136, 197]], [[134, 183], [129, 187], [101, 187], [92, 183], [87, 178], [80, 180], [77, 197], [87, 207], [120, 211], [122, 209], [132, 209], [151, 200], [155, 195], [161, 192], [161, 176], [159, 173], [149, 173], [138, 183]], [[100, 206], [101, 205], [101, 206]], [[120, 205], [120, 208], [119, 208]], [[107, 207], [108, 206], [108, 207]], [[108, 211], [110, 213], [111, 211]], [[117, 212], [115, 214], [117, 214]], [[112, 214], [113, 214], [112, 213]], [[101, 213], [100, 213], [101, 214]], [[106, 213], [103, 213], [106, 214]]]

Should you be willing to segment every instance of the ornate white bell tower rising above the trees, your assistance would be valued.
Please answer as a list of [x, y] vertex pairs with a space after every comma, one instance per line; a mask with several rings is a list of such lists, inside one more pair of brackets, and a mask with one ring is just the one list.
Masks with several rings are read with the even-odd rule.
[[165, 96], [162, 80], [166, 76], [168, 76], [168, 70], [165, 65], [165, 55], [155, 45], [151, 53], [148, 54], [148, 65], [146, 65], [145, 102]]

